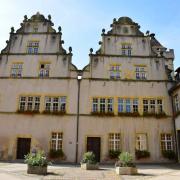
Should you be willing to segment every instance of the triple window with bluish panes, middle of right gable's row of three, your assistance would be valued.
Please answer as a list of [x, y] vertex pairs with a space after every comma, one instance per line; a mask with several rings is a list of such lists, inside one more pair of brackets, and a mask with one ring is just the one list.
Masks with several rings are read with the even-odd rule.
[[118, 98], [118, 112], [138, 112], [139, 109], [139, 101], [137, 98]]

